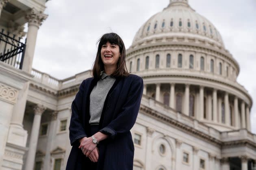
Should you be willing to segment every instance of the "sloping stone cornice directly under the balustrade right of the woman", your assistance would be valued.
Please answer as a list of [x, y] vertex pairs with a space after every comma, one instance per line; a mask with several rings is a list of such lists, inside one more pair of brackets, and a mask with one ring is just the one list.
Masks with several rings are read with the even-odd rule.
[[146, 115], [149, 115], [150, 117], [154, 117], [154, 119], [158, 119], [159, 121], [163, 121], [169, 125], [172, 125], [172, 126], [176, 127], [177, 129], [180, 129], [186, 133], [189, 133], [191, 135], [195, 135], [204, 140], [207, 140], [208, 142], [213, 142], [217, 145], [221, 145], [221, 143], [222, 143], [220, 140], [217, 140], [216, 138], [209, 136], [208, 134], [204, 134], [203, 132], [200, 132], [199, 130], [194, 129], [193, 127], [185, 125], [184, 123], [174, 120], [171, 117], [168, 117], [161, 113], [158, 113], [156, 110], [153, 110], [152, 108], [149, 108], [142, 104], [140, 106], [140, 112], [144, 113]]

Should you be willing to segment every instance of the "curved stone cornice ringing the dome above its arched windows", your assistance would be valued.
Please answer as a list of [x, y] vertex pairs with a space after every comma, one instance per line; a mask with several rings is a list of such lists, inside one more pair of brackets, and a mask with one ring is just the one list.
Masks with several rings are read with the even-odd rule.
[[201, 53], [210, 55], [219, 55], [226, 58], [229, 62], [234, 64], [237, 73], [240, 72], [238, 62], [232, 57], [232, 55], [225, 51], [224, 49], [218, 49], [216, 47], [211, 47], [209, 45], [204, 45], [200, 43], [189, 43], [189, 42], [161, 42], [161, 43], [148, 43], [146, 45], [138, 46], [134, 49], [129, 48], [126, 51], [126, 60], [130, 56], [138, 55], [139, 53], [147, 53], [153, 51], [164, 51], [164, 50], [186, 50], [186, 51], [200, 51]]

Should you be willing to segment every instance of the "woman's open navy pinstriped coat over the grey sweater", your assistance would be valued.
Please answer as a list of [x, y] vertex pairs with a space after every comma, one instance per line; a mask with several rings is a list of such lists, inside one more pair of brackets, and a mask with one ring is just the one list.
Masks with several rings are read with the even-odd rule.
[[[96, 84], [97, 80], [94, 78], [84, 80], [72, 102], [69, 125], [72, 150], [66, 170], [93, 169], [87, 166], [89, 158], [78, 149], [78, 139], [93, 135], [90, 134], [89, 99]], [[109, 137], [102, 140], [98, 146], [100, 155], [97, 170], [132, 170], [134, 145], [130, 129], [135, 124], [139, 112], [142, 92], [143, 80], [134, 74], [117, 78], [109, 90], [99, 124], [100, 132], [108, 134]]]

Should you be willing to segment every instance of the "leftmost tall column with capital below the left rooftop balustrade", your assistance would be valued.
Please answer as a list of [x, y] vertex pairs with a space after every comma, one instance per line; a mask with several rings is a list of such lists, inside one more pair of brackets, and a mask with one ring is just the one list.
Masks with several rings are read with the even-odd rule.
[[38, 140], [38, 134], [40, 129], [40, 123], [41, 123], [41, 116], [45, 110], [46, 108], [43, 105], [37, 105], [34, 108], [35, 117], [33, 120], [28, 155], [26, 158], [26, 164], [25, 164], [26, 170], [33, 170], [33, 167], [34, 167], [35, 153], [37, 150], [37, 140]]

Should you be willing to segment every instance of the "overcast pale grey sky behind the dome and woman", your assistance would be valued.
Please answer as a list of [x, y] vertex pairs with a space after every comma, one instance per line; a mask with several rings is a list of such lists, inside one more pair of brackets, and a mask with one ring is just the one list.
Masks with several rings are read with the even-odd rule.
[[[96, 41], [116, 32], [130, 47], [137, 30], [169, 0], [50, 0], [48, 18], [37, 35], [33, 68], [58, 79], [91, 69]], [[225, 47], [240, 66], [237, 81], [256, 102], [256, 1], [189, 0], [190, 6], [219, 30]], [[256, 107], [251, 109], [256, 133]]]

